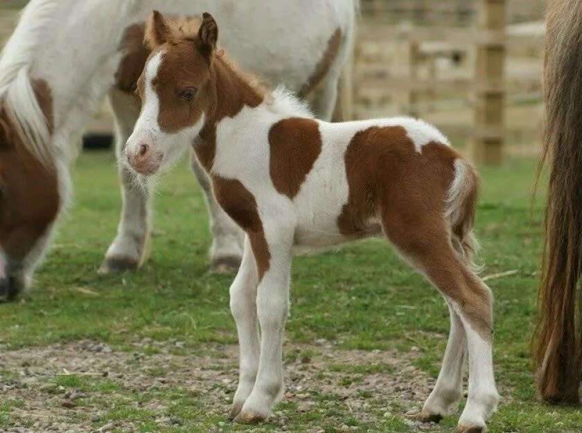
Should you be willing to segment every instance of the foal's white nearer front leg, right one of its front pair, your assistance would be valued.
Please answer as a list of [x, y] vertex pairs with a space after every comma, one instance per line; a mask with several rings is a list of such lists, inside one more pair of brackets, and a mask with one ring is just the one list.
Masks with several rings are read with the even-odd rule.
[[258, 283], [256, 297], [261, 359], [253, 391], [236, 417], [239, 423], [263, 421], [283, 396], [283, 331], [289, 312], [292, 238], [270, 242], [269, 247], [270, 267]]

